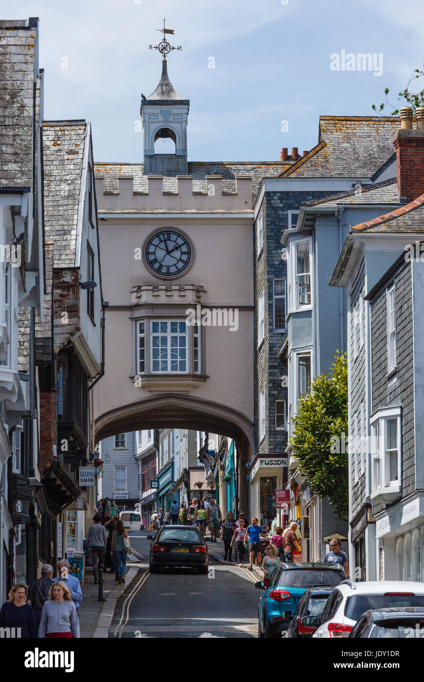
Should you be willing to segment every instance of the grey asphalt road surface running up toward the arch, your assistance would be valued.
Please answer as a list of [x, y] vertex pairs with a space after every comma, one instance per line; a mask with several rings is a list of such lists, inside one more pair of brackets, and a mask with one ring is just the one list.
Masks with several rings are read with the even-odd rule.
[[129, 533], [142, 572], [116, 608], [110, 637], [257, 637], [255, 576], [214, 559], [207, 576], [184, 568], [150, 574], [148, 534]]

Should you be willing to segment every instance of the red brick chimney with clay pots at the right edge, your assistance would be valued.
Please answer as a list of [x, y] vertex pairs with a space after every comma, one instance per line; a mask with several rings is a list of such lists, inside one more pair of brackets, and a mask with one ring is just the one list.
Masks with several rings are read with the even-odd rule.
[[401, 128], [393, 138], [396, 149], [397, 194], [409, 203], [424, 194], [424, 107], [415, 112], [417, 129], [412, 129], [412, 109], [400, 110]]

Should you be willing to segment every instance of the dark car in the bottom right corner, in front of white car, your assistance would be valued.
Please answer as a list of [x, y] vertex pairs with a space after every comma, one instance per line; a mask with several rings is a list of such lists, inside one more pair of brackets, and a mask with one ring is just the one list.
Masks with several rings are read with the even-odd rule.
[[424, 637], [424, 608], [379, 608], [365, 611], [349, 637], [412, 639]]

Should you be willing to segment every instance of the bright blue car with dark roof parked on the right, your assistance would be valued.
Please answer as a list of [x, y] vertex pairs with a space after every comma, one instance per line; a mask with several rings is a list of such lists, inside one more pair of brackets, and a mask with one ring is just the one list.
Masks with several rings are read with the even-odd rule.
[[284, 563], [274, 568], [265, 589], [263, 580], [256, 583], [264, 590], [259, 599], [258, 636], [275, 637], [286, 630], [297, 604], [308, 587], [334, 587], [346, 574], [341, 566], [328, 563]]

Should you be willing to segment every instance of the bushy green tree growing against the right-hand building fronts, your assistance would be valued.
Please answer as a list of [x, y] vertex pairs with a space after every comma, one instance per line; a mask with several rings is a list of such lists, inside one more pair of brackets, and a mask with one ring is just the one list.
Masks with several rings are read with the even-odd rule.
[[333, 357], [330, 373], [316, 376], [310, 393], [299, 399], [289, 443], [301, 474], [343, 519], [348, 512], [348, 373], [346, 353]]

